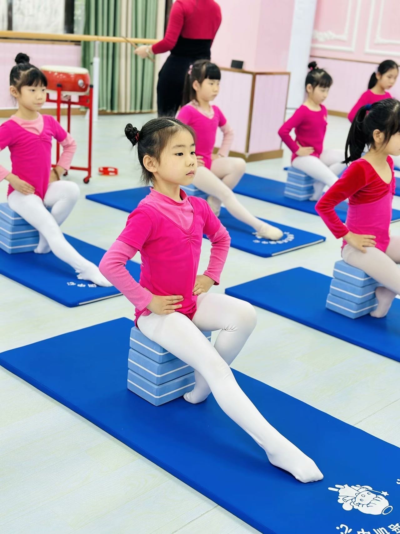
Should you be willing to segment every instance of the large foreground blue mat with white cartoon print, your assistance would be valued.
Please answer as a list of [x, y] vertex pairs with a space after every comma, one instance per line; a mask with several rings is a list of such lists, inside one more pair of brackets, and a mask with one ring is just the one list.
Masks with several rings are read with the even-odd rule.
[[260, 532], [343, 534], [346, 526], [373, 534], [400, 521], [398, 447], [234, 371], [261, 413], [325, 475], [302, 484], [270, 465], [212, 395], [156, 407], [127, 390], [131, 327], [123, 318], [52, 337], [2, 352], [0, 364]]

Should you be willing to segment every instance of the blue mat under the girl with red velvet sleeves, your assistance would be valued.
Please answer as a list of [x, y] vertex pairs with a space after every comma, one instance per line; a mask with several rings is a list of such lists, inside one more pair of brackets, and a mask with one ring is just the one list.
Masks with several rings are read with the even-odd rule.
[[228, 287], [225, 293], [400, 361], [400, 301], [395, 299], [383, 319], [370, 315], [349, 319], [325, 308], [331, 280], [324, 274], [298, 267]]

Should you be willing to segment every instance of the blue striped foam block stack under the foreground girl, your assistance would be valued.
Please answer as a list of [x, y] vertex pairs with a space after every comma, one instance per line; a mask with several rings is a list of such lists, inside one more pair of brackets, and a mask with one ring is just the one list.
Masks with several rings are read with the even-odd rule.
[[[211, 332], [203, 332], [211, 341]], [[154, 406], [182, 397], [195, 385], [193, 367], [133, 327], [128, 357], [128, 389]]]

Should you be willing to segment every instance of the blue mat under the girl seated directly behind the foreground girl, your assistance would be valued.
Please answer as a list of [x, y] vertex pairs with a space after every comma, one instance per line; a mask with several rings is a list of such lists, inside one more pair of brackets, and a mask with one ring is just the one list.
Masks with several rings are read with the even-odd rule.
[[[122, 209], [123, 211], [131, 213], [131, 211], [137, 207], [139, 202], [146, 197], [148, 192], [148, 187], [137, 187], [135, 189], [125, 189], [123, 191], [86, 195], [86, 198], [104, 204], [105, 206]], [[262, 219], [273, 226], [278, 226], [284, 233], [281, 240], [269, 241], [258, 238], [257, 235], [254, 235], [254, 230], [251, 226], [235, 219], [235, 217], [231, 216], [225, 208], [221, 209], [219, 218], [229, 232], [231, 247], [244, 250], [244, 252], [261, 256], [263, 258], [276, 256], [278, 254], [290, 252], [291, 250], [316, 245], [317, 243], [325, 241], [323, 235], [305, 232], [291, 226]]]

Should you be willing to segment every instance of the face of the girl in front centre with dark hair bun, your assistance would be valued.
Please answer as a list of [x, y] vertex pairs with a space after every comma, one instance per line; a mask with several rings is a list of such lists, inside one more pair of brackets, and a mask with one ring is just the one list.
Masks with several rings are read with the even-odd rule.
[[148, 167], [149, 159], [149, 156], [145, 156], [143, 163], [150, 172], [153, 172], [156, 180], [189, 185], [197, 170], [195, 143], [191, 133], [186, 129], [175, 133], [161, 153], [159, 163], [152, 162], [153, 167]]

